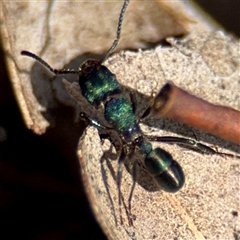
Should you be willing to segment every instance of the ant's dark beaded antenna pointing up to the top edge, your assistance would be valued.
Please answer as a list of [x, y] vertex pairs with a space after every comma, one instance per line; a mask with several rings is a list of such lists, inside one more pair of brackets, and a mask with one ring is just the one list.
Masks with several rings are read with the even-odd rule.
[[119, 15], [119, 20], [118, 20], [118, 27], [117, 27], [117, 35], [116, 35], [116, 39], [113, 41], [112, 46], [109, 48], [109, 50], [107, 51], [107, 53], [102, 57], [102, 59], [99, 61], [99, 64], [102, 64], [107, 58], [108, 56], [114, 51], [114, 49], [117, 47], [118, 42], [120, 40], [120, 36], [121, 36], [121, 28], [122, 28], [122, 22], [123, 22], [123, 16], [124, 13], [127, 9], [127, 6], [129, 4], [130, 0], [125, 0], [124, 4], [122, 6], [122, 10], [120, 12]]

